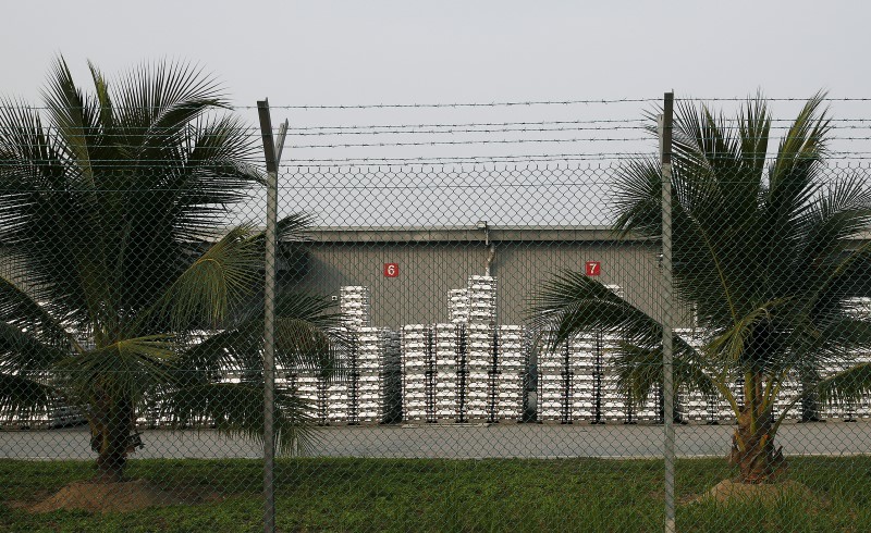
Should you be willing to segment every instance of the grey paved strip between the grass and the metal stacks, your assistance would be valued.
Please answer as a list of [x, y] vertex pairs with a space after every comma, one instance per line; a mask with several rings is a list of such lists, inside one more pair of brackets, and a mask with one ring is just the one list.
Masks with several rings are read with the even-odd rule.
[[[732, 425], [678, 425], [678, 457], [724, 457]], [[659, 425], [377, 425], [321, 427], [318, 457], [379, 458], [655, 458], [661, 456]], [[228, 437], [213, 430], [145, 431], [145, 447], [133, 458], [262, 457], [259, 443]], [[781, 427], [777, 443], [786, 455], [871, 454], [871, 423], [798, 424]], [[93, 459], [85, 427], [0, 432], [0, 458]]]

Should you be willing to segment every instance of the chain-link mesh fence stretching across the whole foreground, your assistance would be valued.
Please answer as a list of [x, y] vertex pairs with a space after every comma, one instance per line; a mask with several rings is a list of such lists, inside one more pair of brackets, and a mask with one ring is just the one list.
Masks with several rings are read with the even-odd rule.
[[822, 100], [666, 104], [608, 162], [285, 153], [274, 248], [257, 137], [179, 101], [3, 108], [12, 528], [871, 525], [871, 195]]

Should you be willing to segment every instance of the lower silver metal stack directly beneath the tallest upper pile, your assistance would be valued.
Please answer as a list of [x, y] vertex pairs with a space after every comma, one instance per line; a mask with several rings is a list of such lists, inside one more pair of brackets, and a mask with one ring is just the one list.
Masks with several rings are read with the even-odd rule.
[[495, 411], [494, 327], [473, 323], [467, 331], [466, 416], [469, 420], [492, 421]]

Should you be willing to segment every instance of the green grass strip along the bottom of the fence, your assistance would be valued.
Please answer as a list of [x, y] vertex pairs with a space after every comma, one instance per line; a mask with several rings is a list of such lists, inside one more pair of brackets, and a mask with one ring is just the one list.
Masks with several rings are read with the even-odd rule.
[[[653, 460], [283, 459], [280, 531], [662, 531], [662, 462]], [[128, 475], [219, 492], [221, 501], [130, 513], [10, 507], [93, 473], [76, 461], [0, 460], [3, 531], [262, 531], [253, 460], [134, 460]], [[679, 531], [871, 531], [871, 458], [794, 458], [789, 478], [820, 500], [687, 504], [728, 478], [722, 459], [677, 463]]]

